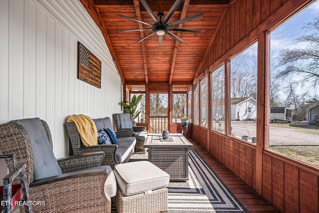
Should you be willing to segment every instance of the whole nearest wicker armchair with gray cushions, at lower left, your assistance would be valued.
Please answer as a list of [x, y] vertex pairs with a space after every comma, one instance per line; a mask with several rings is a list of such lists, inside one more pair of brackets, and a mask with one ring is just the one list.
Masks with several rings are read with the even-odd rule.
[[[55, 159], [49, 127], [39, 118], [1, 124], [0, 151], [14, 154], [16, 165], [25, 164], [29, 199], [44, 204], [32, 205], [33, 213], [111, 212], [116, 180], [110, 166], [100, 166], [103, 152]], [[12, 158], [6, 164], [14, 171]]]

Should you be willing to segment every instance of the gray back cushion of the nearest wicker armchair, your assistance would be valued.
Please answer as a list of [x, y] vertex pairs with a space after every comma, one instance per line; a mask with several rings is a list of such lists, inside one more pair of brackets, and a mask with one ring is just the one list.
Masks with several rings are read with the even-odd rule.
[[12, 121], [21, 125], [30, 139], [33, 153], [34, 180], [61, 175], [62, 171], [53, 154], [52, 146], [39, 118]]

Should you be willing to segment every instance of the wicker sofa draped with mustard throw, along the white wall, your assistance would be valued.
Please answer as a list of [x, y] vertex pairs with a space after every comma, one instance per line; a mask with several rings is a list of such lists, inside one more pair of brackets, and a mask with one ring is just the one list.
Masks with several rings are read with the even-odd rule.
[[102, 165], [114, 166], [116, 164], [127, 163], [134, 152], [136, 138], [133, 137], [133, 131], [114, 132], [113, 124], [110, 117], [93, 119], [98, 130], [110, 129], [116, 134], [117, 144], [101, 144], [97, 146], [84, 147], [81, 142], [79, 131], [74, 122], [65, 123], [68, 135], [71, 141], [73, 154], [81, 154], [87, 152], [105, 153]]

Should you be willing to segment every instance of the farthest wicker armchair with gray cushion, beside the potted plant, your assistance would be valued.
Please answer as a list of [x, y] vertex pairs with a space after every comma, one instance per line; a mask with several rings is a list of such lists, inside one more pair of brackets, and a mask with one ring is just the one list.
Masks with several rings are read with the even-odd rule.
[[[143, 150], [143, 153], [145, 154], [147, 148], [144, 148], [144, 143], [147, 140], [147, 128], [145, 126], [134, 126], [132, 115], [128, 113], [113, 114], [113, 119], [117, 131], [133, 130], [133, 136], [136, 138], [135, 148]], [[123, 123], [125, 124], [123, 125]]]

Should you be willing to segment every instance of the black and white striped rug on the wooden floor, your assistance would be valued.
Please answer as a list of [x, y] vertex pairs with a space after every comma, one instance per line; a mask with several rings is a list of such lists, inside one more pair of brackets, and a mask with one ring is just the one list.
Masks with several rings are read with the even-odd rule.
[[168, 184], [168, 213], [247, 213], [195, 151], [188, 162], [189, 181]]

